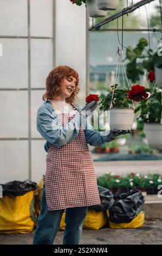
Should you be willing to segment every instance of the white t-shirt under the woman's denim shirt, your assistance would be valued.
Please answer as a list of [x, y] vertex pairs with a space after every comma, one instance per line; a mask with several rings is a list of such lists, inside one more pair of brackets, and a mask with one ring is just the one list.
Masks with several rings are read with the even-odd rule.
[[[53, 102], [57, 108], [59, 108], [59, 111], [62, 113], [69, 113], [70, 115], [73, 114], [78, 114], [79, 112], [75, 109], [72, 108], [66, 101], [64, 100], [53, 100]], [[56, 109], [56, 111], [59, 113], [59, 111]]]

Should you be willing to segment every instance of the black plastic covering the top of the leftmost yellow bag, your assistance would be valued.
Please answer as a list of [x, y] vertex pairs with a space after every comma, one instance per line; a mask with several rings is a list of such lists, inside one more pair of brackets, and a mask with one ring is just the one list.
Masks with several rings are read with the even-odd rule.
[[37, 188], [36, 182], [29, 179], [25, 181], [14, 180], [1, 185], [3, 188], [3, 196], [23, 196], [23, 194]]

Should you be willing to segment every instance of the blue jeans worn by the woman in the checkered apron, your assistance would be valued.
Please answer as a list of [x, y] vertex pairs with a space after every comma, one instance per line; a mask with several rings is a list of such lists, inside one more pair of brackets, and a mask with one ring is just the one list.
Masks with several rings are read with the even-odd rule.
[[[67, 208], [65, 215], [66, 227], [63, 233], [63, 245], [79, 245], [83, 222], [87, 215], [88, 206]], [[64, 209], [49, 211], [46, 202], [45, 186], [43, 185], [43, 196], [41, 201], [41, 214], [37, 219], [33, 245], [52, 245]]]

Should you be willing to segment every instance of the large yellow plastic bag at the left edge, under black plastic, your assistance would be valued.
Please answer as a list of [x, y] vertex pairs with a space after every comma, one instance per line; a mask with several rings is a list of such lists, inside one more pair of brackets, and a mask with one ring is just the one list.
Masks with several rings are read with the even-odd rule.
[[24, 234], [34, 229], [34, 192], [0, 198], [0, 234]]

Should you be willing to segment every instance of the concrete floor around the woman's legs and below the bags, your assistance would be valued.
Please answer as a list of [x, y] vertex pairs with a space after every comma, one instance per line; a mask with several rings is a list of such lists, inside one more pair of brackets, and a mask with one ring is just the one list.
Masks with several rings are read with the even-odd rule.
[[[34, 231], [20, 235], [0, 235], [1, 245], [31, 245]], [[58, 231], [54, 244], [62, 244], [63, 231]], [[162, 245], [162, 221], [145, 221], [138, 229], [83, 229], [81, 245]]]

